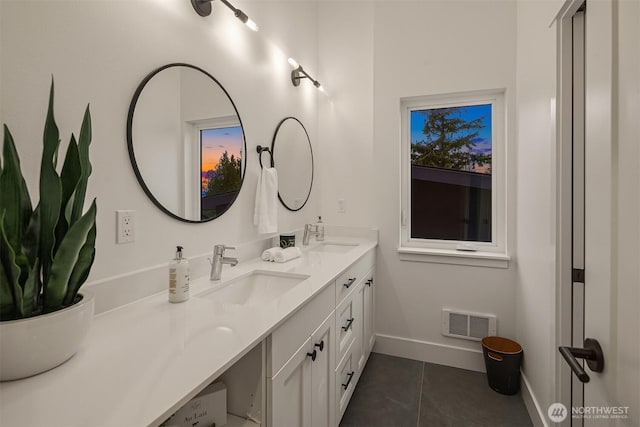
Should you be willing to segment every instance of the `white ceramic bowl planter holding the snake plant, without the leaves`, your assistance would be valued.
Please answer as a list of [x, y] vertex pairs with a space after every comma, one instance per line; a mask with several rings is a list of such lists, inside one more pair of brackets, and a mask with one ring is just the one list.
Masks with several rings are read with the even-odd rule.
[[62, 310], [0, 322], [0, 381], [30, 377], [76, 354], [93, 322], [94, 296]]

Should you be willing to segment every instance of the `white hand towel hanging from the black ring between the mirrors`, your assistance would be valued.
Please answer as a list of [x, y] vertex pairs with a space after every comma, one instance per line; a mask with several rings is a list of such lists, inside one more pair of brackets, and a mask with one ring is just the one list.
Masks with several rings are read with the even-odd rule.
[[278, 232], [278, 172], [275, 168], [262, 168], [258, 175], [253, 224], [261, 234]]

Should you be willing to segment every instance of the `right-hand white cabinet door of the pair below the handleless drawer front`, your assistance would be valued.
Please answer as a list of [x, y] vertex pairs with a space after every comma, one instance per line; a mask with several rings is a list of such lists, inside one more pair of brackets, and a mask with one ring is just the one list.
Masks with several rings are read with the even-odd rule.
[[329, 317], [311, 336], [316, 360], [311, 362], [311, 425], [330, 427], [335, 409], [335, 315]]

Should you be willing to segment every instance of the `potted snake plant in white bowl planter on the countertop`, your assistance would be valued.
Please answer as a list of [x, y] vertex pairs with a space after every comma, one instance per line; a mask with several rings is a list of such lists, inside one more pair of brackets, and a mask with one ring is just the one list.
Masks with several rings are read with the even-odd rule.
[[95, 259], [96, 201], [83, 213], [91, 174], [85, 110], [58, 173], [54, 85], [44, 125], [39, 201], [32, 203], [9, 128], [0, 157], [0, 381], [49, 370], [73, 356], [93, 320], [79, 294]]

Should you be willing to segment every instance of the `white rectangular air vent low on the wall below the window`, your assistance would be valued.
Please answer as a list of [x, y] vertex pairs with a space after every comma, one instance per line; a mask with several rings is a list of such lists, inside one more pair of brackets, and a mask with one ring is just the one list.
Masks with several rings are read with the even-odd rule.
[[480, 341], [486, 336], [496, 335], [496, 331], [494, 314], [442, 309], [442, 335]]

